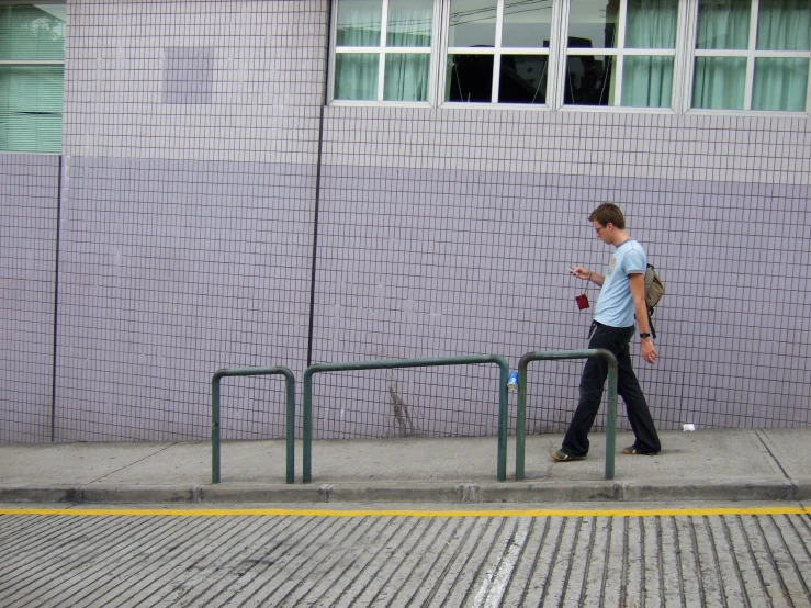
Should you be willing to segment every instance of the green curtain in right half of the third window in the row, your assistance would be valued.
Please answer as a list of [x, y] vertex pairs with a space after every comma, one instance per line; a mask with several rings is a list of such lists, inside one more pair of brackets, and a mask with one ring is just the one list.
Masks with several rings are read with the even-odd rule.
[[[629, 0], [626, 48], [676, 48], [677, 0]], [[673, 57], [627, 55], [622, 66], [622, 105], [669, 108]]]

